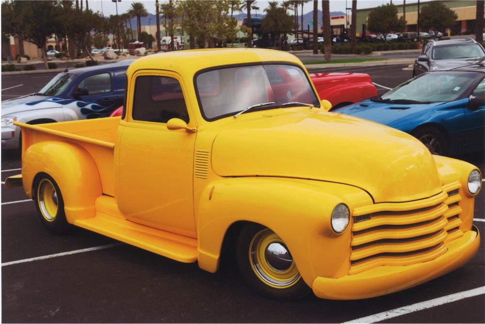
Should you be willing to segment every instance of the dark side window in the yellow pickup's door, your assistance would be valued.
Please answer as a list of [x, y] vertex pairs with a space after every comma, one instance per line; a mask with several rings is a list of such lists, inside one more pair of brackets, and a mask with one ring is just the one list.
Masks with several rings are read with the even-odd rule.
[[132, 117], [156, 123], [180, 118], [188, 124], [189, 114], [177, 79], [158, 76], [136, 78]]

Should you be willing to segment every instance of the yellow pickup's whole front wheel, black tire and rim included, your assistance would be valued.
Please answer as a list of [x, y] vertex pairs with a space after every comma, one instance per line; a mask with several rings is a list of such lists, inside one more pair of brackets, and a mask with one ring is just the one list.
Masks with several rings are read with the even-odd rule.
[[311, 292], [286, 244], [267, 227], [244, 226], [238, 237], [236, 257], [246, 282], [263, 296], [294, 300]]

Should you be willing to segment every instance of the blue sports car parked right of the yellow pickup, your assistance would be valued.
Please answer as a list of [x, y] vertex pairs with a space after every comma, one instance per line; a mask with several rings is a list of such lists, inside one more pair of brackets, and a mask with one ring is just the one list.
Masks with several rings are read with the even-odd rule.
[[433, 154], [483, 151], [485, 67], [434, 71], [404, 82], [383, 96], [335, 110], [405, 131]]

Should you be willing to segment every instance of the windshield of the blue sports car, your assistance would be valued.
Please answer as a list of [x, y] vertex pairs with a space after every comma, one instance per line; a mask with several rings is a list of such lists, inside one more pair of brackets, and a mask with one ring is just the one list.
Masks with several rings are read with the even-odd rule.
[[[482, 75], [466, 72], [431, 72], [411, 79], [383, 95], [382, 100], [399, 102], [400, 100], [416, 103], [453, 101], [465, 97], [468, 89]], [[379, 101], [379, 100], [376, 100]]]

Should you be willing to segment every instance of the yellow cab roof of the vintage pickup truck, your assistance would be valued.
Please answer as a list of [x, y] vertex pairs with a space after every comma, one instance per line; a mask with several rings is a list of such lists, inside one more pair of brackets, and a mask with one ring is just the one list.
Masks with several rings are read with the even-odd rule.
[[131, 75], [138, 70], [160, 69], [192, 77], [210, 67], [259, 62], [287, 62], [302, 66], [296, 56], [273, 49], [190, 49], [145, 56], [133, 62], [127, 73]]

